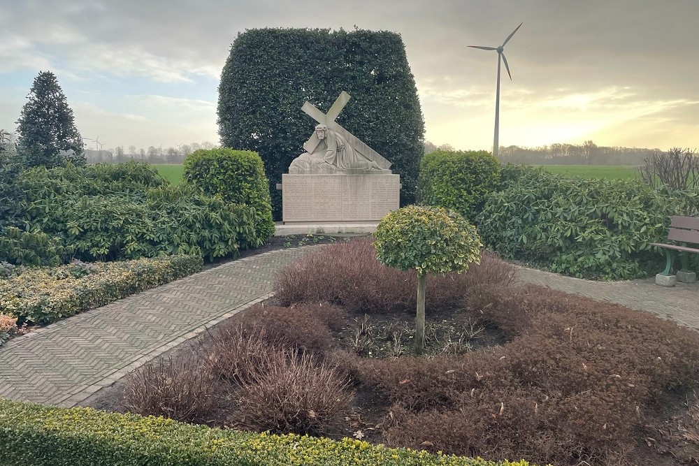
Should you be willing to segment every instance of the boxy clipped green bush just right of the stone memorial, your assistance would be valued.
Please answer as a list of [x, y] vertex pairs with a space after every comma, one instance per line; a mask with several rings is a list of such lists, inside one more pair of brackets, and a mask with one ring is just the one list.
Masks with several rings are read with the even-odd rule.
[[417, 193], [421, 203], [473, 219], [498, 184], [500, 163], [489, 152], [436, 150], [422, 158]]

